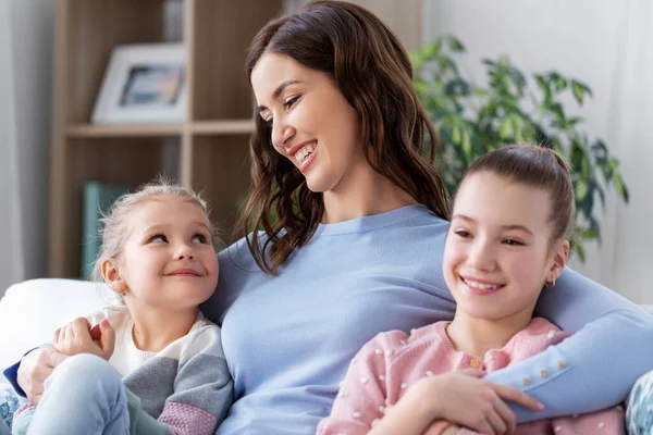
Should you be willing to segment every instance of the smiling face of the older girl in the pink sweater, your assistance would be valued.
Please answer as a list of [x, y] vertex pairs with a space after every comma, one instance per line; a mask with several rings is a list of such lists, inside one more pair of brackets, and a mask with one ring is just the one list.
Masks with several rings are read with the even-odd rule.
[[544, 189], [490, 172], [465, 179], [444, 250], [446, 284], [465, 314], [530, 321], [546, 282], [562, 273], [566, 240], [551, 245]]

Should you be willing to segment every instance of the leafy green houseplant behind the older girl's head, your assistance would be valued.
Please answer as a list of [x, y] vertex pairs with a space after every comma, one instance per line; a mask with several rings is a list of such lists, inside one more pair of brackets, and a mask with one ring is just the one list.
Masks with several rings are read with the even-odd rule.
[[445, 36], [410, 53], [415, 88], [440, 134], [439, 165], [449, 194], [471, 162], [492, 149], [521, 142], [554, 148], [572, 166], [577, 211], [571, 246], [584, 260], [583, 241], [601, 241], [596, 204], [605, 207], [605, 190], [614, 188], [628, 202], [617, 160], [563, 104], [570, 92], [582, 105], [591, 89], [557, 72], [527, 76], [506, 57], [483, 60], [488, 83], [478, 85], [459, 71], [456, 61], [464, 52], [458, 39]]

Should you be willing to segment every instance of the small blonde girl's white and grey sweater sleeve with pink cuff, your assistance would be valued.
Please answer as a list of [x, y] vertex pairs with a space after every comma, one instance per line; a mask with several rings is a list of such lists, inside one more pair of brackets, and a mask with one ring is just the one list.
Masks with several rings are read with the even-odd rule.
[[220, 328], [199, 330], [180, 360], [174, 391], [165, 400], [160, 423], [172, 434], [213, 434], [233, 402], [233, 381], [222, 351]]

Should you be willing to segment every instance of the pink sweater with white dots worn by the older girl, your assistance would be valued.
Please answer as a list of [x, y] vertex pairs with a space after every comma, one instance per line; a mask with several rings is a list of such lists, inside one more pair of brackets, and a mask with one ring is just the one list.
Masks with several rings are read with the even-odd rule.
[[[319, 435], [367, 434], [383, 417], [384, 407], [394, 405], [408, 388], [424, 376], [460, 369], [485, 373], [522, 361], [569, 336], [545, 319], [535, 318], [502, 348], [477, 358], [454, 349], [445, 327], [438, 322], [408, 335], [402, 331], [379, 334], [364, 346], [347, 372], [333, 405], [331, 417], [318, 426]], [[566, 366], [559, 361], [560, 369]], [[534, 376], [555, 376], [542, 371]], [[523, 378], [525, 391], [531, 380]], [[460, 433], [473, 433], [460, 431]], [[621, 407], [609, 410], [520, 424], [516, 434], [625, 434]]]

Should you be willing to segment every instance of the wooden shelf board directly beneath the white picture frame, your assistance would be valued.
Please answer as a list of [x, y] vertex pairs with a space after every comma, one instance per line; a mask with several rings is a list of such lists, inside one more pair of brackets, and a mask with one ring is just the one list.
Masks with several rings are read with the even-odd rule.
[[67, 127], [69, 137], [165, 137], [180, 136], [183, 124], [77, 124]]

